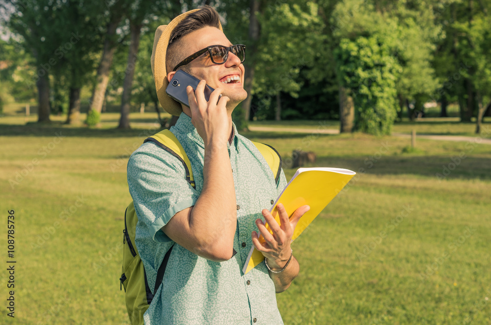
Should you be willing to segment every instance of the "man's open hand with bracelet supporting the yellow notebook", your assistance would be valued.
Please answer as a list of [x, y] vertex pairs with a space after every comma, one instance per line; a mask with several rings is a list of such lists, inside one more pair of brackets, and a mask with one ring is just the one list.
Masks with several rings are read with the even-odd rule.
[[[308, 205], [301, 206], [295, 210], [291, 218], [288, 218], [288, 213], [283, 204], [278, 203], [276, 209], [278, 210], [281, 225], [276, 222], [267, 209], [263, 209], [262, 214], [266, 223], [273, 231], [273, 234], [268, 231], [261, 219], [256, 219], [256, 225], [261, 232], [261, 236], [258, 236], [257, 232], [253, 231], [252, 244], [268, 259], [268, 265], [274, 271], [279, 271], [285, 266], [291, 256], [292, 250], [290, 244], [295, 227], [300, 217], [309, 211], [310, 207]], [[261, 239], [263, 238], [265, 242], [261, 243]]]

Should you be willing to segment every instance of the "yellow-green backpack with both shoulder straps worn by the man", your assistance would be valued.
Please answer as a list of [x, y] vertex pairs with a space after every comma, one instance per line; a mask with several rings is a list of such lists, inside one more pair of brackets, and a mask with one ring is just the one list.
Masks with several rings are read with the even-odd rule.
[[[183, 163], [186, 170], [186, 180], [194, 188], [194, 178], [192, 177], [191, 163], [188, 156], [184, 152], [181, 143], [172, 132], [164, 130], [152, 135], [145, 139], [145, 142], [153, 142], [165, 151], [171, 153]], [[259, 142], [252, 142], [259, 152], [263, 155], [264, 159], [270, 166], [275, 175], [275, 182], [278, 183], [281, 172], [281, 157], [278, 152], [271, 146]], [[128, 310], [128, 316], [132, 325], [143, 324], [143, 314], [148, 309], [154, 293], [159, 289], [164, 278], [165, 267], [172, 251], [172, 247], [167, 251], [164, 256], [164, 260], [157, 271], [157, 279], [155, 281], [155, 287], [150, 289], [143, 267], [143, 262], [140, 259], [138, 250], [135, 245], [135, 231], [138, 217], [136, 216], [135, 206], [132, 203], [126, 208], [124, 216], [124, 230], [123, 230], [123, 267], [121, 269], [120, 289], [125, 289], [125, 302], [126, 309]]]

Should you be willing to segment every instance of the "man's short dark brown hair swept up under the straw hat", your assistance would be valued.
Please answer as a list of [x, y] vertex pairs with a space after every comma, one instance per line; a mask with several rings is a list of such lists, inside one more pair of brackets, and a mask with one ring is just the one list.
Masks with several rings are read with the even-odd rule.
[[[206, 26], [217, 28], [220, 26], [220, 16], [218, 15], [218, 12], [209, 5], [205, 5], [202, 9], [192, 12], [174, 27], [170, 34], [169, 44], [165, 54], [165, 68], [167, 69], [167, 73], [171, 72], [171, 69], [185, 58], [183, 54], [184, 44], [182, 38], [192, 31]], [[182, 70], [187, 71], [186, 66], [181, 68]]]

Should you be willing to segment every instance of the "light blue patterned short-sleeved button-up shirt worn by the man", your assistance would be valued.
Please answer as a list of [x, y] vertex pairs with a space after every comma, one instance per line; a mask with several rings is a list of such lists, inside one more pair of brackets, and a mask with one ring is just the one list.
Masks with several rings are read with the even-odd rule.
[[273, 280], [264, 262], [242, 272], [251, 249], [254, 220], [264, 217], [286, 186], [283, 170], [275, 184], [273, 171], [257, 148], [237, 133], [229, 144], [235, 193], [237, 229], [230, 260], [214, 262], [171, 241], [161, 228], [177, 212], [195, 204], [203, 188], [204, 143], [182, 113], [170, 131], [176, 135], [191, 162], [196, 189], [185, 179], [183, 164], [156, 144], [141, 145], [128, 162], [128, 185], [138, 224], [135, 244], [145, 266], [150, 288], [157, 270], [174, 244], [163, 284], [144, 314], [145, 324], [276, 325], [283, 324], [276, 304]]

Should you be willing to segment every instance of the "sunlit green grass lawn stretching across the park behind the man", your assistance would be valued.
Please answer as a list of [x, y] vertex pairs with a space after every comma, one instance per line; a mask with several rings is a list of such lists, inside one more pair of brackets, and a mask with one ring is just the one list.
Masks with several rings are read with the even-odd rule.
[[[23, 119], [0, 119], [17, 324], [129, 324], [119, 290], [126, 163], [151, 131]], [[296, 148], [358, 172], [292, 244], [301, 270], [277, 295], [285, 324], [491, 324], [490, 145], [419, 139], [408, 152], [395, 136], [244, 135], [275, 147], [288, 179]], [[2, 299], [7, 282], [0, 272]]]

